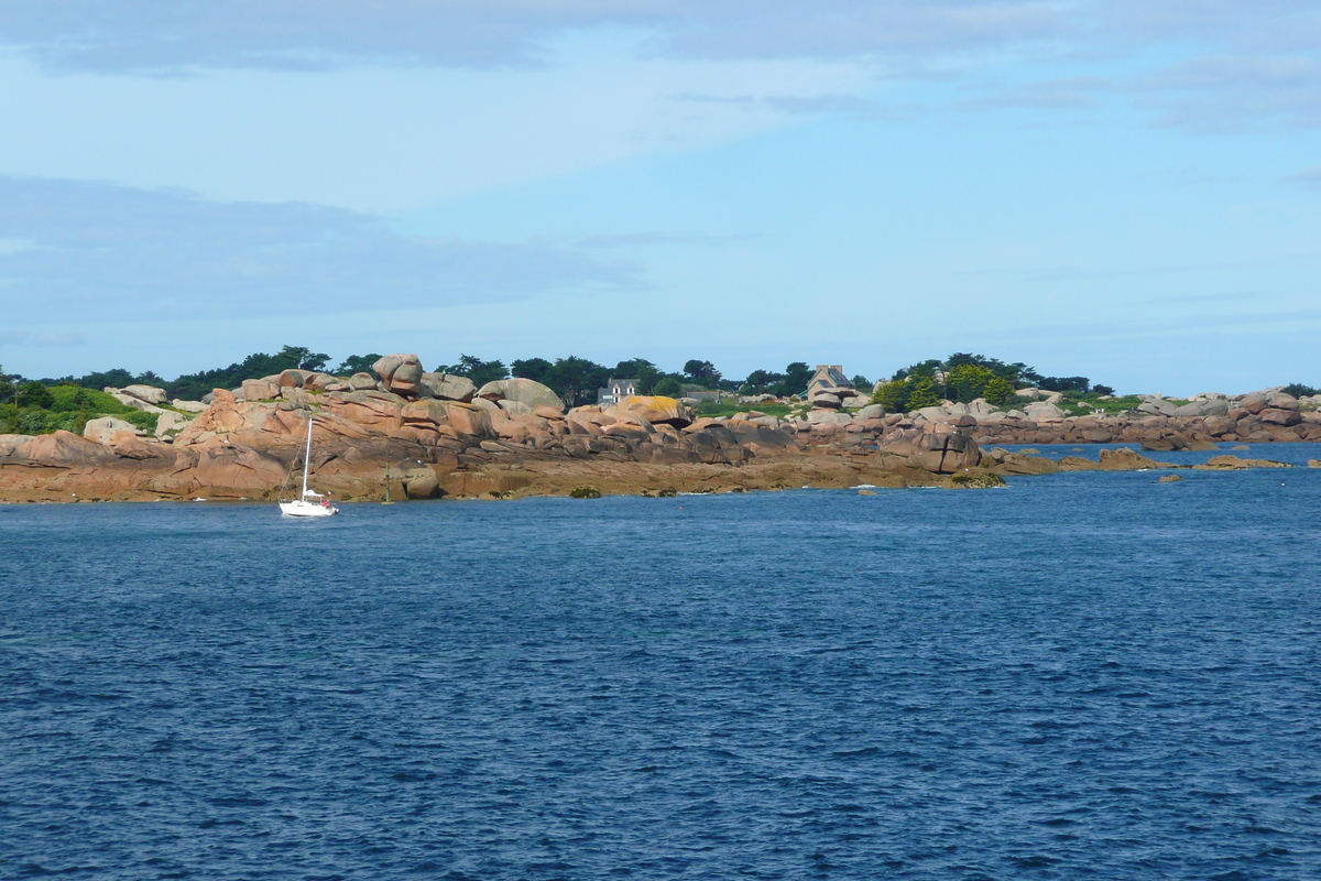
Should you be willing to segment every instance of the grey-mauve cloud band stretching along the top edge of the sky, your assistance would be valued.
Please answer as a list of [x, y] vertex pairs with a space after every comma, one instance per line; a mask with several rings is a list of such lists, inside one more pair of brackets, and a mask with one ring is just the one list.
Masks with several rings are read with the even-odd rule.
[[[992, 87], [960, 108], [1071, 111], [1114, 88], [1186, 129], [1321, 125], [1313, 0], [11, 0], [0, 16], [0, 48], [48, 70], [165, 75], [535, 69], [555, 62], [557, 41], [604, 32], [633, 41], [639, 57], [849, 61], [910, 81], [1024, 59], [1100, 59], [1123, 73], [1110, 83], [1070, 81], [1044, 65], [1041, 82]], [[1182, 61], [1149, 61], [1170, 57]], [[859, 110], [849, 95], [675, 98]]]

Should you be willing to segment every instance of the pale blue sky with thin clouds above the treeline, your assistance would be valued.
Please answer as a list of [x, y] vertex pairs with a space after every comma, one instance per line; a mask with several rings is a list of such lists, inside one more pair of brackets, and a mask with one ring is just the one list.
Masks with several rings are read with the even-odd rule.
[[8, 0], [0, 363], [1321, 384], [1293, 0]]

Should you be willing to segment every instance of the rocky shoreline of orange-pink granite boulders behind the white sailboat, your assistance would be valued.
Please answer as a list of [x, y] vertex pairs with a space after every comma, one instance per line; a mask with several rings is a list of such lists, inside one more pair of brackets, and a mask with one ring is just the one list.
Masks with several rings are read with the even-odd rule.
[[[856, 413], [812, 409], [806, 419], [757, 411], [695, 417], [670, 398], [565, 408], [550, 388], [526, 379], [476, 388], [460, 376], [425, 372], [413, 355], [387, 355], [374, 372], [341, 379], [291, 370], [215, 390], [209, 402], [176, 402], [182, 407], [162, 411], [182, 416], [155, 435], [92, 420], [86, 436], [0, 436], [0, 501], [273, 499], [293, 491], [308, 419], [314, 419], [316, 486], [345, 501], [383, 499], [387, 466], [399, 499], [575, 490], [667, 495], [985, 486], [1008, 474], [1161, 466], [1132, 450], [1054, 462], [993, 448], [1008, 444], [1122, 441], [1172, 450], [1321, 441], [1321, 416], [1279, 392], [1217, 404], [1225, 412], [1210, 415], [1055, 417], [1037, 408], [1034, 417], [979, 419], [947, 408], [886, 415], [873, 405]], [[1268, 464], [1217, 458], [1209, 466]]]

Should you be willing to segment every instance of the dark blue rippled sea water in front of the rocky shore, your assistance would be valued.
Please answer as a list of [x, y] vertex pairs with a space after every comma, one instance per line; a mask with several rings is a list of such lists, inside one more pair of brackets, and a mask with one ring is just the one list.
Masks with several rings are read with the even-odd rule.
[[1321, 877], [1321, 470], [1156, 477], [0, 506], [0, 876]]

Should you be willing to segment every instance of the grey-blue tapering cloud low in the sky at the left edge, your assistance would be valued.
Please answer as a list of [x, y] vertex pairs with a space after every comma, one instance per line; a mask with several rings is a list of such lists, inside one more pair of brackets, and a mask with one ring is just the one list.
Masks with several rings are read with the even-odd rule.
[[304, 203], [209, 202], [108, 184], [0, 177], [11, 321], [334, 314], [637, 289], [642, 268], [538, 243], [423, 239]]

